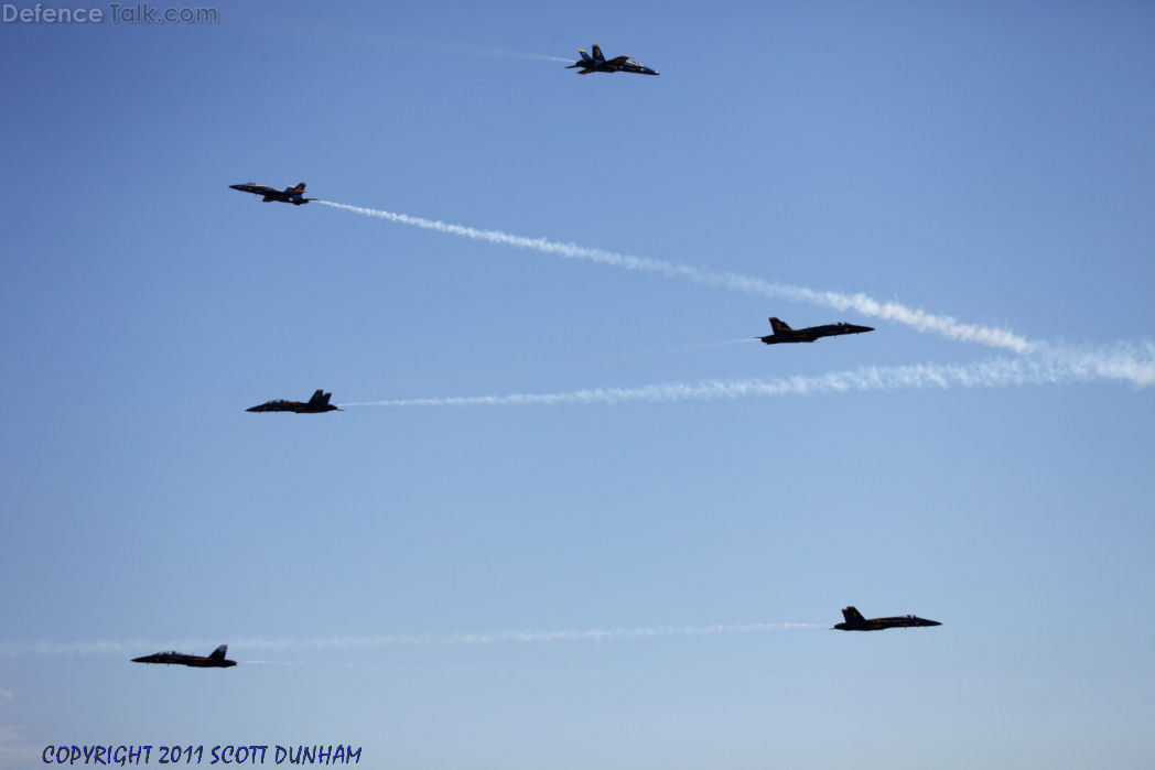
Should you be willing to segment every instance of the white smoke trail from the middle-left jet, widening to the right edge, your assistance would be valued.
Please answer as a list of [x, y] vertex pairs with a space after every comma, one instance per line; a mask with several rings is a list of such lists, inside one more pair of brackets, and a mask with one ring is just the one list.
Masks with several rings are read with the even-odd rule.
[[1004, 388], [1009, 386], [1072, 384], [1115, 380], [1135, 387], [1155, 384], [1155, 345], [1119, 344], [1103, 351], [1059, 351], [1052, 356], [989, 359], [975, 364], [914, 364], [864, 366], [817, 376], [767, 380], [703, 380], [695, 383], [668, 382], [634, 388], [587, 388], [565, 393], [507, 394], [502, 396], [447, 396], [441, 398], [393, 398], [353, 402], [345, 406], [557, 406], [562, 404], [624, 404], [718, 401], [772, 396], [887, 390], [947, 390]]

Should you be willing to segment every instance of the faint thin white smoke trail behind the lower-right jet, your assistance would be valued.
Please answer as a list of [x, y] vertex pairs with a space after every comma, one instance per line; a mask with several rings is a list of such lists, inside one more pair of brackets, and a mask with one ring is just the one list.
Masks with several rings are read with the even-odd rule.
[[[504, 630], [460, 634], [396, 634], [382, 636], [254, 637], [230, 642], [234, 650], [368, 650], [385, 646], [477, 646], [505, 643], [613, 642], [665, 636], [713, 636], [760, 631], [827, 628], [822, 623], [714, 623], [709, 626], [642, 626], [635, 628], [586, 628], [569, 630]], [[208, 649], [218, 641], [185, 638], [179, 642], [147, 640], [91, 640], [88, 642], [0, 642], [0, 656], [94, 656], [132, 655], [161, 648]], [[252, 660], [248, 663], [271, 663]], [[278, 664], [296, 665], [296, 664]]]

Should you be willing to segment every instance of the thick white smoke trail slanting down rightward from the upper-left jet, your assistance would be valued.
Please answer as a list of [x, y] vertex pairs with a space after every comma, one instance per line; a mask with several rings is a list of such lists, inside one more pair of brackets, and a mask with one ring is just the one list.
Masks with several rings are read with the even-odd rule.
[[973, 323], [961, 323], [949, 315], [937, 315], [923, 309], [907, 307], [895, 301], [879, 301], [866, 294], [858, 292], [844, 294], [835, 291], [818, 291], [805, 286], [782, 284], [753, 276], [745, 276], [737, 272], [722, 272], [708, 268], [699, 268], [691, 264], [678, 264], [665, 260], [654, 260], [644, 256], [633, 256], [629, 254], [618, 254], [601, 248], [589, 248], [576, 244], [562, 244], [551, 241], [545, 238], [528, 238], [526, 236], [514, 236], [500, 230], [478, 230], [464, 225], [454, 225], [437, 219], [424, 219], [411, 217], [407, 214], [394, 214], [381, 209], [366, 209], [359, 205], [346, 203], [335, 203], [333, 201], [318, 200], [318, 203], [352, 211], [367, 217], [377, 217], [389, 222], [435, 230], [438, 232], [471, 238], [474, 240], [490, 244], [501, 244], [515, 248], [532, 249], [544, 254], [554, 254], [571, 260], [586, 260], [599, 264], [611, 264], [625, 268], [626, 270], [640, 270], [642, 272], [657, 272], [666, 278], [684, 278], [703, 286], [721, 286], [731, 291], [740, 291], [747, 294], [758, 294], [774, 299], [788, 299], [796, 302], [810, 302], [832, 307], [837, 311], [855, 309], [863, 315], [875, 319], [902, 323], [918, 331], [932, 331], [951, 339], [964, 342], [977, 342], [991, 347], [1003, 347], [1013, 350], [1016, 353], [1026, 353], [1033, 347], [1028, 342], [1007, 329], [996, 327], [984, 327]]

